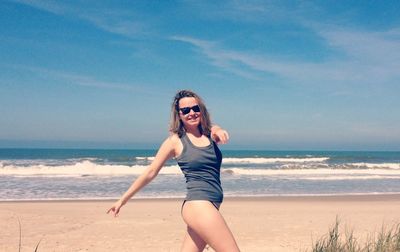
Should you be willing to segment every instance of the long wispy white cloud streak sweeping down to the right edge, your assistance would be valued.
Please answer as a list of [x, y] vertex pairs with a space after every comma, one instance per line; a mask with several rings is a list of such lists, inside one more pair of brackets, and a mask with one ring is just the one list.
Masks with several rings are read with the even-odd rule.
[[[290, 61], [283, 57], [280, 59], [276, 56], [225, 49], [221, 43], [215, 41], [185, 36], [174, 36], [171, 39], [191, 44], [210, 64], [246, 78], [257, 78], [257, 72], [262, 72], [298, 83], [348, 85], [382, 83], [400, 77], [398, 30], [363, 32], [329, 29], [316, 32], [330, 49], [339, 51], [342, 56], [319, 63], [307, 59]], [[238, 64], [248, 70], [243, 70]]]

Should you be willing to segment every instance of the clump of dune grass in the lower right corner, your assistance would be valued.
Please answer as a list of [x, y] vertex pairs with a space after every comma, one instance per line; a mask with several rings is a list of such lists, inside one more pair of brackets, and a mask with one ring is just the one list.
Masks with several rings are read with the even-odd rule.
[[353, 231], [339, 231], [339, 219], [328, 231], [328, 234], [313, 242], [312, 252], [400, 252], [400, 224], [391, 228], [382, 226], [377, 235], [369, 235], [361, 244]]

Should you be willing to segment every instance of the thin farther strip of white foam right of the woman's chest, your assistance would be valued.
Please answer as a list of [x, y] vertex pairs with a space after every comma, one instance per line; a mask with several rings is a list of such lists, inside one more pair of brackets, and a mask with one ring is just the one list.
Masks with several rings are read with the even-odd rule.
[[271, 164], [271, 163], [307, 163], [325, 162], [329, 157], [307, 157], [307, 158], [224, 158], [224, 164]]

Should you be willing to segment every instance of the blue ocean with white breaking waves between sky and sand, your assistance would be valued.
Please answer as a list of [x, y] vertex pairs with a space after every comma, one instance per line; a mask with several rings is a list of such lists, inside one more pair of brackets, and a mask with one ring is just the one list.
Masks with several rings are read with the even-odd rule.
[[[400, 152], [222, 150], [225, 197], [400, 193]], [[117, 199], [156, 150], [0, 149], [0, 201]], [[175, 160], [136, 198], [183, 198]]]

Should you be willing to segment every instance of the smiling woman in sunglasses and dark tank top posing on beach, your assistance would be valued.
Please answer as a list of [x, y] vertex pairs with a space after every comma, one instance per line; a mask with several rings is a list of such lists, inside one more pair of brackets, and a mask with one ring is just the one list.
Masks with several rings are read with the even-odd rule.
[[[154, 179], [164, 163], [175, 158], [186, 177], [187, 196], [182, 217], [187, 233], [182, 251], [203, 251], [209, 244], [215, 251], [239, 251], [236, 241], [219, 212], [223, 200], [220, 182], [222, 155], [217, 143], [226, 143], [228, 133], [211, 127], [207, 109], [192, 91], [179, 91], [172, 104], [171, 136], [158, 150], [153, 162], [108, 211], [117, 216], [120, 208]], [[215, 141], [215, 142], [214, 142]]]

